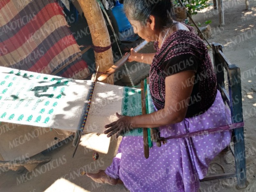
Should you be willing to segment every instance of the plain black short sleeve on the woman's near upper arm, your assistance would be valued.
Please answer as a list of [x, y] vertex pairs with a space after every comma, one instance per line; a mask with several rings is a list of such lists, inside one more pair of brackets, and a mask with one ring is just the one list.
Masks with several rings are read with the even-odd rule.
[[182, 71], [194, 71], [196, 73], [198, 64], [195, 56], [191, 53], [185, 53], [172, 57], [163, 62], [163, 71], [165, 76], [170, 76]]

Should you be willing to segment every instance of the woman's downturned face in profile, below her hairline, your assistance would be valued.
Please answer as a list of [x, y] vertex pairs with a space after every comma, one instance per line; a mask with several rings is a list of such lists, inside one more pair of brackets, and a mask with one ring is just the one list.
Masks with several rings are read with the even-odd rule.
[[140, 21], [128, 19], [133, 27], [134, 33], [137, 33], [142, 39], [146, 41], [157, 41], [159, 34], [157, 34], [154, 27], [150, 25], [149, 21], [146, 24], [141, 24]]

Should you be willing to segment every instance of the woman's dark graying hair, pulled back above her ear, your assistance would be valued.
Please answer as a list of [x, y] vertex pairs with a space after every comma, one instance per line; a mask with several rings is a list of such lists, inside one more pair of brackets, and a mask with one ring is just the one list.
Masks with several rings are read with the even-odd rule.
[[128, 19], [145, 24], [150, 15], [156, 18], [156, 29], [171, 27], [175, 20], [171, 0], [124, 0], [124, 12]]

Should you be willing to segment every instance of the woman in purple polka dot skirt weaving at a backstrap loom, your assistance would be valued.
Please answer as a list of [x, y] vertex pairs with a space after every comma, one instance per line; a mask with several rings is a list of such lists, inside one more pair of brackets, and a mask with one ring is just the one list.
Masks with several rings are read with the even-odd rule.
[[[216, 76], [204, 43], [193, 28], [174, 21], [170, 0], [125, 0], [128, 20], [156, 53], [131, 50], [129, 61], [151, 64], [149, 87], [156, 112], [121, 116], [104, 133], [118, 137], [138, 127], [159, 127], [162, 137], [230, 124], [217, 90]], [[210, 161], [230, 142], [230, 132], [216, 132], [154, 143], [143, 156], [143, 138], [123, 137], [118, 154], [106, 171], [87, 173], [96, 182], [123, 182], [130, 191], [198, 191]]]

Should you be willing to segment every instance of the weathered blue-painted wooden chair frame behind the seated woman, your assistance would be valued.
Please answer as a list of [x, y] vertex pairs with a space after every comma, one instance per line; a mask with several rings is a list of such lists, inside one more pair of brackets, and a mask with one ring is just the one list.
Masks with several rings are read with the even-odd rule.
[[[235, 64], [231, 64], [227, 60], [222, 52], [221, 44], [212, 44], [212, 54], [214, 71], [217, 76], [217, 87], [221, 93], [224, 103], [227, 103], [230, 108], [232, 123], [243, 122], [240, 68]], [[229, 95], [226, 92], [224, 85], [224, 68], [226, 69], [228, 75]], [[246, 187], [244, 127], [232, 130], [231, 142], [232, 141], [234, 142], [234, 148], [230, 145], [230, 150], [235, 158], [236, 172], [207, 176], [200, 181], [236, 177], [238, 187]]]

